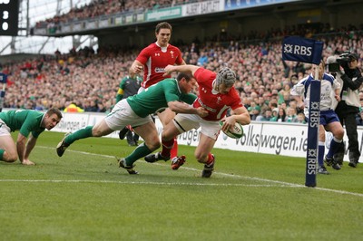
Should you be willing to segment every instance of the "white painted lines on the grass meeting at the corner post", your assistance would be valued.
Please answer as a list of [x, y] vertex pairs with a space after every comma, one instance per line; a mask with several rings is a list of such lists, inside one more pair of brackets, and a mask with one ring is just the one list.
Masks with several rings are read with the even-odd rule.
[[[44, 148], [44, 149], [54, 149], [54, 148], [50, 148], [50, 147], [44, 147], [44, 146], [37, 146], [38, 148]], [[69, 149], [67, 151], [70, 152], [75, 152], [75, 153], [80, 153], [80, 154], [84, 154], [84, 155], [92, 155], [92, 156], [98, 156], [98, 157], [104, 157], [104, 158], [110, 158], [110, 159], [114, 159], [114, 156], [110, 156], [110, 155], [102, 155], [102, 154], [95, 154], [95, 153], [90, 153], [90, 152], [86, 152], [86, 151], [78, 151], [78, 150], [72, 150]], [[142, 164], [150, 164], [144, 161], [138, 161], [138, 163], [142, 163]], [[166, 166], [165, 164], [160, 164], [160, 163], [152, 163], [152, 165], [159, 165], [159, 166]], [[187, 170], [192, 170], [192, 171], [200, 171], [200, 169], [192, 169], [192, 168], [187, 168], [187, 167], [181, 167], [181, 169], [187, 169]], [[275, 183], [275, 184], [280, 184], [280, 186], [278, 185], [246, 185], [246, 184], [213, 184], [213, 183], [191, 183], [191, 184], [181, 184], [181, 183], [157, 183], [157, 182], [135, 182], [134, 184], [158, 184], [158, 185], [204, 185], [204, 186], [213, 186], [213, 185], [218, 185], [218, 186], [240, 186], [240, 187], [290, 187], [290, 188], [308, 188], [305, 185], [301, 185], [301, 184], [296, 184], [296, 183], [289, 183], [289, 182], [284, 182], [284, 181], [278, 181], [278, 180], [271, 180], [271, 179], [266, 179], [266, 178], [254, 178], [254, 177], [248, 177], [248, 176], [240, 176], [240, 175], [234, 175], [234, 174], [228, 174], [228, 173], [222, 173], [222, 172], [217, 172], [214, 171], [213, 172], [214, 175], [221, 175], [221, 176], [225, 176], [225, 177], [231, 177], [231, 178], [244, 178], [244, 179], [250, 179], [250, 180], [256, 180], [256, 181], [263, 181], [263, 182], [270, 182], [270, 183]], [[0, 180], [3, 181], [3, 180]], [[16, 180], [14, 180], [16, 181]], [[19, 180], [22, 181], [22, 180]], [[32, 181], [32, 180], [28, 180], [28, 181]], [[42, 180], [39, 180], [42, 181]], [[51, 181], [51, 180], [46, 180], [46, 181]], [[59, 180], [59, 181], [64, 181], [64, 180]], [[56, 180], [54, 182], [57, 182]], [[65, 181], [64, 181], [65, 182]], [[69, 182], [94, 182], [94, 181], [82, 181], [82, 180], [74, 180], [74, 181], [69, 181]], [[100, 182], [100, 181], [98, 181]], [[117, 181], [108, 181], [108, 180], [104, 180], [102, 182], [105, 183], [132, 183], [132, 182], [117, 182]], [[347, 195], [352, 195], [352, 196], [358, 196], [358, 197], [363, 197], [363, 194], [361, 193], [356, 193], [356, 192], [348, 192], [348, 191], [344, 191], [344, 190], [337, 190], [337, 189], [329, 189], [329, 188], [313, 188], [316, 190], [321, 190], [321, 191], [327, 191], [327, 192], [334, 192], [334, 193], [338, 193], [338, 194], [347, 194]]]

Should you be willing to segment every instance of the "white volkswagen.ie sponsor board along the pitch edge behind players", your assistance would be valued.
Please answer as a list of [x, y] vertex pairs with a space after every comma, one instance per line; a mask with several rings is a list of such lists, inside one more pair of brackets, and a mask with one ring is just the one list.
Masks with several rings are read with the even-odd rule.
[[[52, 131], [74, 132], [86, 126], [93, 126], [103, 120], [104, 113], [64, 113], [64, 118]], [[162, 124], [156, 119], [158, 132], [162, 133]], [[240, 139], [228, 138], [221, 132], [215, 148], [265, 154], [306, 158], [308, 146], [308, 125], [279, 122], [252, 122], [243, 126], [244, 134]], [[191, 130], [178, 136], [178, 143], [195, 147], [199, 143], [199, 130]], [[108, 135], [118, 138], [118, 131]], [[358, 127], [359, 149], [362, 149], [363, 127]], [[347, 135], [344, 141], [348, 143]], [[348, 145], [347, 145], [348, 146]], [[328, 149], [326, 149], [328, 151]], [[348, 160], [348, 155], [345, 155]]]

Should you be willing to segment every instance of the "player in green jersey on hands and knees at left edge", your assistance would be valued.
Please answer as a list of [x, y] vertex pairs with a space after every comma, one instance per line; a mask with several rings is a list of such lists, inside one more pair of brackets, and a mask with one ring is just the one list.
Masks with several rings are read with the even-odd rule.
[[[52, 130], [61, 119], [61, 111], [55, 108], [49, 109], [45, 113], [30, 110], [1, 112], [0, 160], [15, 162], [19, 158], [24, 165], [34, 165], [34, 162], [29, 159], [29, 155], [34, 149], [38, 136], [45, 129]], [[10, 135], [10, 132], [15, 130], [19, 130], [16, 144]]]

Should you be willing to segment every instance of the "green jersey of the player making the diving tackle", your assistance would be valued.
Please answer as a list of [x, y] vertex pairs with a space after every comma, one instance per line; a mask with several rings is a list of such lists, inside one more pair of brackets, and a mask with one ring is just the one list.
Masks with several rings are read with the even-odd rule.
[[128, 97], [127, 102], [138, 116], [146, 117], [168, 108], [170, 101], [184, 101], [191, 104], [196, 98], [195, 94], [182, 93], [177, 80], [165, 79], [153, 84], [144, 92]]

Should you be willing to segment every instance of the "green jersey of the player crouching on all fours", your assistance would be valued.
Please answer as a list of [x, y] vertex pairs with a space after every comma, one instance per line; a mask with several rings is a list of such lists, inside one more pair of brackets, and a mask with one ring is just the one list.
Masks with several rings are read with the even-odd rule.
[[28, 137], [29, 133], [32, 132], [34, 138], [37, 138], [45, 130], [45, 128], [40, 126], [43, 118], [44, 113], [39, 111], [17, 110], [0, 112], [0, 119], [5, 122], [10, 130], [12, 132], [19, 130], [25, 137]]

